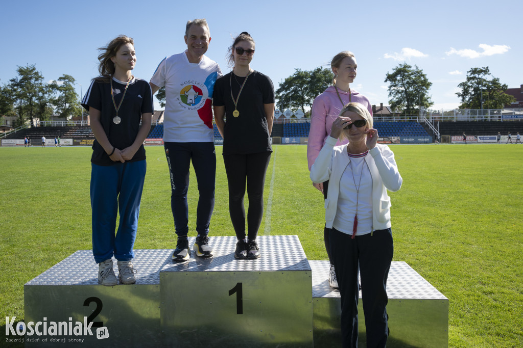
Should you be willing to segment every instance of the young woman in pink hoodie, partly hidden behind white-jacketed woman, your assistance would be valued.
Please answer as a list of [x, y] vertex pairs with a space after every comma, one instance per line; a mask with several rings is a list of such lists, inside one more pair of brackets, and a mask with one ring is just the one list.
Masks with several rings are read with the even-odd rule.
[[[343, 109], [345, 104], [350, 102], [360, 103], [367, 107], [367, 110], [372, 116], [372, 105], [365, 95], [358, 93], [350, 88], [350, 83], [354, 82], [356, 78], [358, 64], [354, 53], [343, 51], [334, 56], [331, 61], [332, 72], [334, 73], [333, 86], [329, 86], [325, 92], [318, 95], [312, 104], [311, 113], [311, 130], [309, 131], [309, 142], [307, 145], [307, 161], [309, 162], [309, 171], [311, 170], [316, 157], [320, 150], [325, 145], [325, 140], [331, 134], [332, 123], [339, 116], [339, 112]], [[336, 142], [336, 146], [344, 145], [348, 140]], [[328, 181], [320, 184], [313, 184], [319, 189], [324, 198], [327, 198]], [[333, 289], [338, 288], [338, 281], [329, 250], [329, 229], [325, 227], [323, 231], [323, 239], [325, 241], [325, 248], [331, 268], [329, 270], [328, 280], [329, 285]]]

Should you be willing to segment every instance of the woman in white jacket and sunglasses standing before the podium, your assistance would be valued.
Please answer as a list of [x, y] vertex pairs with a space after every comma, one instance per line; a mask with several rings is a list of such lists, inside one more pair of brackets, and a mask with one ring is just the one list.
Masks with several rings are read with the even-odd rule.
[[[394, 253], [390, 197], [401, 188], [394, 153], [377, 143], [372, 117], [359, 103], [344, 106], [311, 167], [314, 183], [329, 181], [325, 225], [342, 305], [344, 347], [358, 345], [358, 268], [368, 347], [389, 335], [386, 282]], [[353, 127], [354, 126], [354, 127]], [[336, 146], [338, 138], [349, 143]]]

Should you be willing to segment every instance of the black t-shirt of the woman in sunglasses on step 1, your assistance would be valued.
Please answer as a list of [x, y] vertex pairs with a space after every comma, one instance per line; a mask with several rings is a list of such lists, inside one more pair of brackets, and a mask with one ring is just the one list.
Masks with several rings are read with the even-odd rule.
[[245, 77], [232, 74], [231, 72], [220, 77], [212, 94], [213, 105], [225, 106], [222, 153], [227, 155], [272, 151], [264, 109], [264, 104], [275, 102], [272, 81], [256, 70], [251, 73], [237, 103], [240, 116], [234, 117], [231, 82], [232, 94], [237, 98]]

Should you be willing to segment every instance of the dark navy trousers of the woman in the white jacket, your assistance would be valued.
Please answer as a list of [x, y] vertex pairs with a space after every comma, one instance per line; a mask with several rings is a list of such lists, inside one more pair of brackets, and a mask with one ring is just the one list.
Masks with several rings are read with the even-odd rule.
[[343, 347], [358, 346], [358, 267], [367, 347], [384, 347], [389, 336], [386, 286], [394, 254], [391, 229], [351, 239], [333, 228], [329, 239], [341, 295]]

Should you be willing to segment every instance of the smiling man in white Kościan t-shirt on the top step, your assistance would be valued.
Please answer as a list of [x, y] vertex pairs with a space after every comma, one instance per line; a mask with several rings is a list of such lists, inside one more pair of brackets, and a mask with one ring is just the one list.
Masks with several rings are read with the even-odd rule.
[[172, 186], [170, 205], [178, 235], [174, 261], [190, 258], [187, 189], [191, 161], [200, 194], [196, 212], [198, 236], [193, 248], [199, 257], [212, 256], [208, 234], [214, 209], [216, 154], [211, 107], [214, 82], [222, 76], [218, 64], [204, 56], [211, 41], [205, 19], [188, 21], [184, 39], [187, 50], [164, 58], [149, 82], [153, 94], [165, 87], [164, 148]]

